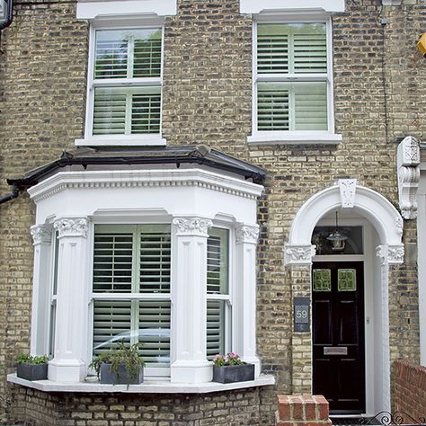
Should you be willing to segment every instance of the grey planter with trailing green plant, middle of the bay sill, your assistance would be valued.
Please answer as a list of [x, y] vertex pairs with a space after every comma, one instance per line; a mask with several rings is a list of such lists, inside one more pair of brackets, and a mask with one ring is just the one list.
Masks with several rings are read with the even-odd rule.
[[139, 385], [144, 381], [144, 361], [139, 356], [138, 343], [118, 342], [111, 351], [94, 357], [89, 367], [96, 371], [102, 384]]

